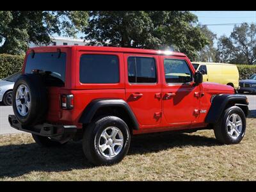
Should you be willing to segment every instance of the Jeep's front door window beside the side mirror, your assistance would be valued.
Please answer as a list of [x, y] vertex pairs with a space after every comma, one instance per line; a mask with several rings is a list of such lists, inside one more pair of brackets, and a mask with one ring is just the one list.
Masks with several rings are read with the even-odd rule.
[[188, 83], [192, 81], [191, 71], [184, 60], [164, 59], [166, 83]]

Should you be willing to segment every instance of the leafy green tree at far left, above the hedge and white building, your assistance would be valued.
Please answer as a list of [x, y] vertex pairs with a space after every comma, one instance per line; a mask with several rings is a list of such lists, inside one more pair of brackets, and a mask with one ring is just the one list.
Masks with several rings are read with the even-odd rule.
[[0, 11], [0, 53], [22, 54], [29, 42], [50, 44], [50, 36], [76, 37], [88, 23], [88, 12]]

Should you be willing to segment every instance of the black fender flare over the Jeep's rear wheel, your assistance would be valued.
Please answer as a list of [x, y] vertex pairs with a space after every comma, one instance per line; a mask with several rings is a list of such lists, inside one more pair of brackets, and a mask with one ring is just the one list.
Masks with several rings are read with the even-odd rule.
[[97, 112], [99, 108], [106, 108], [106, 107], [120, 107], [123, 108], [129, 118], [131, 118], [132, 124], [134, 125], [134, 129], [139, 129], [139, 124], [136, 119], [136, 116], [132, 112], [130, 106], [125, 102], [123, 99], [95, 99], [86, 106], [84, 109], [81, 117], [79, 118], [79, 123], [82, 124], [89, 124], [92, 122], [93, 116]]

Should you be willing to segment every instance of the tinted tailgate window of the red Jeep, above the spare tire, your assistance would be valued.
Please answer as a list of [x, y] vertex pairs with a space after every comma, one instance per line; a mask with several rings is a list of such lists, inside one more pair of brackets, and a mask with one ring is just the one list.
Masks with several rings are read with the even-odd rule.
[[40, 70], [46, 79], [47, 86], [64, 86], [67, 54], [65, 52], [36, 52], [28, 55], [25, 73]]

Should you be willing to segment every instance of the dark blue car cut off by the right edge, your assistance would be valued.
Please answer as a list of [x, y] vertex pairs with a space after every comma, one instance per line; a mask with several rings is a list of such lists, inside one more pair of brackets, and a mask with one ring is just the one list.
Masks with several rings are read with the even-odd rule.
[[239, 81], [238, 93], [243, 92], [256, 93], [256, 74], [253, 74], [249, 79]]

